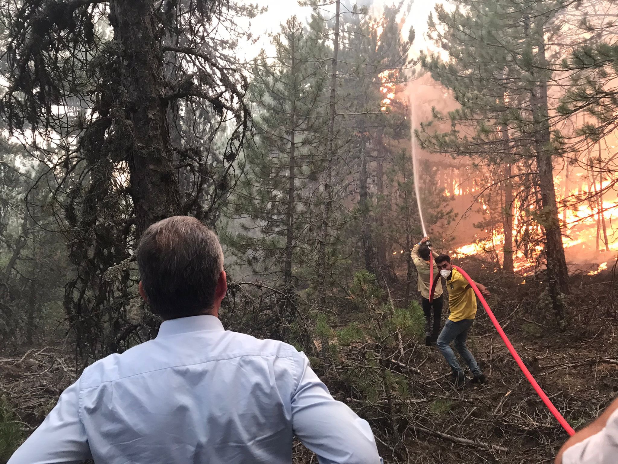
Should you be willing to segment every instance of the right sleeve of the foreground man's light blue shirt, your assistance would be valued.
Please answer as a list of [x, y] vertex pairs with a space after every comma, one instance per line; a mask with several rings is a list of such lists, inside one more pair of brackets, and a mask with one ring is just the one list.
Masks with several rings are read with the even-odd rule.
[[304, 353], [295, 365], [300, 380], [292, 395], [292, 427], [320, 464], [383, 463], [367, 421], [332, 398]]

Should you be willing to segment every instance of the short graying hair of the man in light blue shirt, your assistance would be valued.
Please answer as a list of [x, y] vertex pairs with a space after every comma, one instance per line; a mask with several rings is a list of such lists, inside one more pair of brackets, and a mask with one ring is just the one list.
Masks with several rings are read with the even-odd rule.
[[137, 265], [150, 308], [163, 319], [211, 311], [223, 251], [196, 218], [173, 216], [151, 225], [140, 238]]

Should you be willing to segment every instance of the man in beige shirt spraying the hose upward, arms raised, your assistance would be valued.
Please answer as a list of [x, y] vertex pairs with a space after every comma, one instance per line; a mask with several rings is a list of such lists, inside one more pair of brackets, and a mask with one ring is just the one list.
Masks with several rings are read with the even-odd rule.
[[[433, 294], [433, 301], [429, 301], [429, 291], [431, 282], [429, 280], [429, 257], [431, 250], [427, 246], [429, 237], [423, 238], [412, 248], [412, 262], [417, 268], [418, 273], [418, 291], [421, 293], [421, 304], [423, 313], [425, 313], [425, 345], [430, 346], [436, 343], [438, 335], [440, 335], [440, 323], [442, 320], [442, 285], [436, 285], [436, 291]], [[433, 276], [438, 275], [439, 270], [436, 263], [433, 263]], [[433, 307], [433, 330], [431, 327], [431, 308]]]

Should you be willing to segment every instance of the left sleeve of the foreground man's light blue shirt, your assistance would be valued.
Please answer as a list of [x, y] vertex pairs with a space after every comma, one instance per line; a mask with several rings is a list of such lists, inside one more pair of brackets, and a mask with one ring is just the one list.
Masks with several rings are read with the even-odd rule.
[[72, 464], [91, 459], [79, 417], [79, 380], [64, 390], [43, 423], [7, 464]]

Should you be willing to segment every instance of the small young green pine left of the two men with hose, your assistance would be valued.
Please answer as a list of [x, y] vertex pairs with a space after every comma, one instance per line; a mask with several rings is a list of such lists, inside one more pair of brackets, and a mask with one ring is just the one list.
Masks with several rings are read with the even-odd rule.
[[397, 455], [405, 446], [400, 427], [410, 396], [406, 374], [414, 372], [404, 356], [423, 333], [423, 312], [416, 301], [404, 308], [394, 306], [366, 270], [355, 273], [349, 298], [363, 315], [362, 322], [337, 331], [334, 358], [345, 368], [341, 376], [353, 400], [383, 418], [379, 430]]

